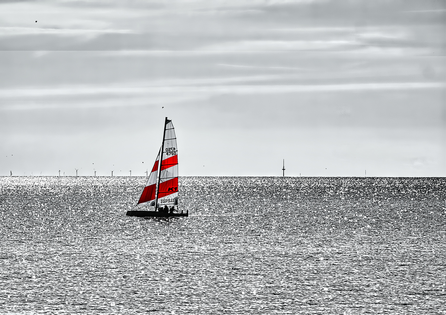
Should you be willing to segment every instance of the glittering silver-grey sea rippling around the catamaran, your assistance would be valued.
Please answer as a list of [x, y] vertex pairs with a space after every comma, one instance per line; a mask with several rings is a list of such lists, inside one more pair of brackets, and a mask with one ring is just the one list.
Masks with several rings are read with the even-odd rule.
[[446, 314], [446, 179], [0, 177], [1, 314]]

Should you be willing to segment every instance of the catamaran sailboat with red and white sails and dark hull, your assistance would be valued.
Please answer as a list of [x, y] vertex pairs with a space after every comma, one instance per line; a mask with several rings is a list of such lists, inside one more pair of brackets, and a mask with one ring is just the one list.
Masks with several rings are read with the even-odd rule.
[[[160, 159], [161, 156], [161, 159]], [[163, 141], [138, 205], [155, 207], [153, 211], [127, 211], [130, 217], [188, 217], [189, 210], [178, 210], [178, 150], [172, 120], [165, 119]], [[167, 206], [167, 208], [166, 208]], [[170, 206], [170, 207], [169, 207]], [[164, 209], [169, 209], [164, 211]]]

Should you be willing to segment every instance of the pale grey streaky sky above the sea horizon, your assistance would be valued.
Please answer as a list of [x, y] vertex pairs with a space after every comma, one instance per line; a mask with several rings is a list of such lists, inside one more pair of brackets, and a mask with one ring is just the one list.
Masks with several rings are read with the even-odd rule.
[[432, 0], [0, 2], [0, 176], [446, 176]]

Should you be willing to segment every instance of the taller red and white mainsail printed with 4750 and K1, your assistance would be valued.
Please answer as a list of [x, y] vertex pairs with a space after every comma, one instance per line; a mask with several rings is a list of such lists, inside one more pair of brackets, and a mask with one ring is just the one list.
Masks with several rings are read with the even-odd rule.
[[160, 163], [158, 205], [178, 204], [178, 149], [172, 121], [166, 118]]

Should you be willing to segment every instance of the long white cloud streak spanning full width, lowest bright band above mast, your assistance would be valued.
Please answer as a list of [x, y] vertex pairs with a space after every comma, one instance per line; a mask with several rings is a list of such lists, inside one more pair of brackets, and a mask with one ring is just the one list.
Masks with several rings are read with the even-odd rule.
[[[422, 90], [444, 89], [444, 82], [396, 82], [396, 83], [348, 83], [325, 85], [213, 85], [213, 86], [60, 86], [57, 88], [3, 89], [0, 99], [17, 99], [18, 102], [7, 101], [2, 110], [26, 110], [41, 108], [86, 108], [113, 106], [160, 105], [165, 103], [182, 103], [191, 100], [211, 98], [216, 95], [261, 95], [286, 93], [319, 93], [319, 92], [349, 92], [349, 91], [384, 91], [384, 90]], [[99, 99], [93, 97], [101, 96]], [[116, 100], [116, 96], [125, 97]], [[58, 98], [59, 101], [49, 102], [45, 98]], [[67, 104], [66, 98], [71, 105]], [[90, 98], [88, 101], [77, 102], [73, 98]], [[93, 99], [91, 99], [93, 98]], [[113, 99], [115, 98], [115, 99]], [[30, 102], [23, 100], [31, 99]], [[21, 102], [21, 101], [23, 102]], [[45, 100], [45, 101], [44, 101]], [[129, 101], [130, 100], [130, 101]], [[82, 105], [78, 105], [81, 103]], [[43, 104], [43, 105], [42, 105]], [[58, 105], [62, 104], [62, 105]]]

